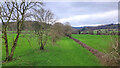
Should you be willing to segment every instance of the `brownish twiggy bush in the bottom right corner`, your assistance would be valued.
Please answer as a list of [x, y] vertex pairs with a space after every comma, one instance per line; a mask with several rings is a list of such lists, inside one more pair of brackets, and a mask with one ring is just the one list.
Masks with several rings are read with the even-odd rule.
[[110, 48], [109, 52], [106, 53], [104, 58], [104, 64], [108, 66], [119, 66], [120, 65], [120, 46], [118, 45], [120, 41], [117, 37], [111, 37]]

